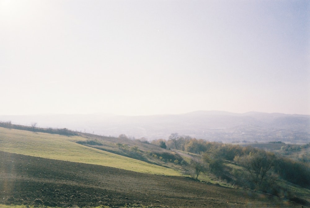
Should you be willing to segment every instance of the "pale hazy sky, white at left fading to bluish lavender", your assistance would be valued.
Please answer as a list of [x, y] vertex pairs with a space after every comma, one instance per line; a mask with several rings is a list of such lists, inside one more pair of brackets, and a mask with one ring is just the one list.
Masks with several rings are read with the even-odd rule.
[[0, 0], [0, 115], [310, 114], [310, 1]]

